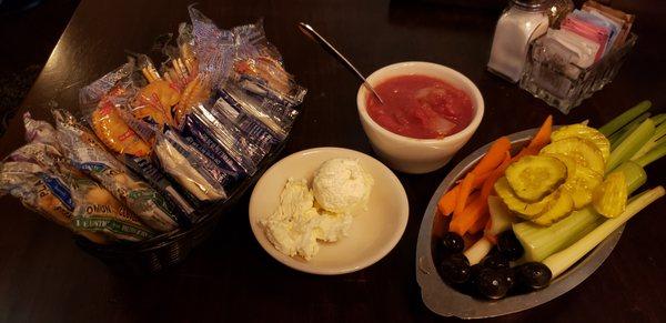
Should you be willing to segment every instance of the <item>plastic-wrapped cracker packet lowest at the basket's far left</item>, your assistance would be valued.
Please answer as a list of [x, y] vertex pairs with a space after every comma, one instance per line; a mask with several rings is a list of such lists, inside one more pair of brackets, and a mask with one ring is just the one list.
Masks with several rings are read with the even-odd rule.
[[6, 162], [0, 165], [0, 192], [95, 243], [141, 241], [154, 234], [109, 191], [84, 176]]

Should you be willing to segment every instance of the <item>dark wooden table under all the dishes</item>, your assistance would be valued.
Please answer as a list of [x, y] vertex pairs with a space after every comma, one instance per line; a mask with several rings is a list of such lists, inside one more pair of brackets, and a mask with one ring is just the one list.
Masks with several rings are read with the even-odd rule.
[[[485, 71], [498, 10], [382, 0], [199, 2], [223, 28], [264, 17], [269, 39], [310, 90], [285, 154], [323, 145], [372, 154], [356, 115], [359, 82], [299, 33], [299, 21], [334, 40], [366, 73], [410, 60], [463, 72], [485, 98], [484, 120], [450, 165], [425, 175], [398, 174], [411, 204], [404, 236], [379, 263], [341, 276], [300, 273], [270, 258], [250, 231], [248, 196], [182, 265], [148, 277], [110, 272], [65, 230], [2, 198], [0, 321], [435, 321], [415, 281], [416, 236], [426, 203], [456, 162], [498, 135], [538, 125], [549, 113], [557, 123], [589, 119], [599, 125], [640, 100], [666, 102], [666, 10], [657, 0], [613, 1], [637, 14], [638, 44], [617, 79], [569, 115]], [[155, 36], [174, 32], [188, 20], [189, 3], [83, 1], [20, 112], [47, 118], [53, 104], [78, 109], [79, 88], [122, 63], [125, 49], [147, 52]], [[16, 149], [21, 137], [14, 118], [0, 140], [1, 154]], [[649, 185], [664, 183], [664, 166], [663, 161], [648, 166]], [[569, 293], [497, 321], [665, 321], [665, 211], [662, 200], [632, 220], [606, 263]]]

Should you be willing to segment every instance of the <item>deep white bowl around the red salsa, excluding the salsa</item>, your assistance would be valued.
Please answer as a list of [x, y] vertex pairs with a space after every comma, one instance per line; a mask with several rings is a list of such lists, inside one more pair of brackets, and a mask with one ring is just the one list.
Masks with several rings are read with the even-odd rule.
[[390, 78], [400, 75], [436, 78], [465, 91], [472, 99], [474, 118], [465, 129], [443, 139], [414, 139], [391, 132], [370, 118], [365, 107], [370, 91], [363, 84], [359, 88], [356, 105], [361, 123], [380, 159], [392, 169], [405, 173], [422, 174], [435, 171], [445, 165], [478, 128], [483, 119], [483, 97], [465, 75], [447, 67], [428, 62], [391, 64], [372, 73], [367, 82], [376, 87]]

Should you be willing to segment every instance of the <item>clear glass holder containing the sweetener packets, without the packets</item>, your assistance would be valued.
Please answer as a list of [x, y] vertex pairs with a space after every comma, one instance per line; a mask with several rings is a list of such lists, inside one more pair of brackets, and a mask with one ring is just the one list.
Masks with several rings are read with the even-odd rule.
[[620, 47], [587, 69], [552, 59], [539, 49], [538, 41], [533, 41], [519, 87], [567, 114], [613, 81], [637, 38], [630, 33]]

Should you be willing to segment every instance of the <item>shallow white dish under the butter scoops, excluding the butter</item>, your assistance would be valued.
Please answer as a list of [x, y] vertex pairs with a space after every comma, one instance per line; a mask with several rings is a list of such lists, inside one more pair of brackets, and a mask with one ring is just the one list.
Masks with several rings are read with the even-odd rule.
[[[320, 252], [310, 261], [281, 253], [268, 240], [259, 221], [275, 211], [289, 178], [307, 179], [311, 183], [314, 171], [334, 158], [357, 159], [373, 176], [367, 211], [355, 214], [347, 236], [337, 242], [321, 243]], [[342, 148], [309, 149], [282, 159], [256, 182], [250, 198], [250, 225], [261, 246], [292, 269], [322, 275], [359, 271], [384, 258], [402, 238], [408, 215], [407, 195], [395, 174], [380, 161]]]

